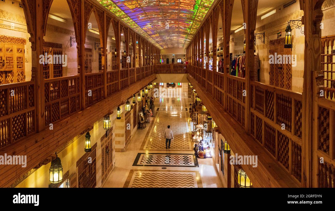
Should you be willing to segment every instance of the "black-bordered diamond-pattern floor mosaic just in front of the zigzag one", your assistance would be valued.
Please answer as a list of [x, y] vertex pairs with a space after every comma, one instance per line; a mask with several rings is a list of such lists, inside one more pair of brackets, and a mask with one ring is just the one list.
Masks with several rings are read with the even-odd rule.
[[138, 153], [133, 166], [199, 167], [194, 154]]

